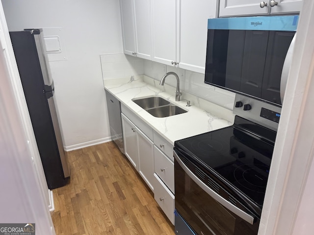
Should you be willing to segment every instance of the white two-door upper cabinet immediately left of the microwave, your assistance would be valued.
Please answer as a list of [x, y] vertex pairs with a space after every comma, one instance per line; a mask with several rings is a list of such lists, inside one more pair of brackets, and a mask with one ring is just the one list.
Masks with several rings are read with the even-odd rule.
[[216, 0], [152, 0], [153, 61], [205, 72], [207, 20]]

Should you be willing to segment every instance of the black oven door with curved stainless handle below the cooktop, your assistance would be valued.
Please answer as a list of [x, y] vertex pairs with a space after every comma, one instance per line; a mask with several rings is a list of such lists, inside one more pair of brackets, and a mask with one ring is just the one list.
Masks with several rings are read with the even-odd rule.
[[[216, 193], [218, 184], [205, 175], [201, 168], [174, 150], [175, 157], [175, 207], [186, 224], [197, 235], [257, 235], [260, 220], [245, 207], [238, 208], [233, 196], [228, 200], [219, 194], [228, 194], [223, 188]], [[189, 164], [187, 167], [186, 164]], [[192, 166], [191, 166], [192, 165]], [[194, 170], [191, 170], [194, 169]], [[193, 172], [198, 172], [194, 174]], [[200, 178], [202, 179], [200, 179]], [[204, 183], [204, 179], [209, 184]], [[211, 185], [209, 187], [209, 185]], [[216, 189], [215, 189], [216, 188]], [[176, 216], [180, 218], [180, 216]], [[175, 226], [177, 221], [175, 221]], [[177, 229], [176, 229], [177, 230]], [[179, 234], [179, 232], [178, 232]]]

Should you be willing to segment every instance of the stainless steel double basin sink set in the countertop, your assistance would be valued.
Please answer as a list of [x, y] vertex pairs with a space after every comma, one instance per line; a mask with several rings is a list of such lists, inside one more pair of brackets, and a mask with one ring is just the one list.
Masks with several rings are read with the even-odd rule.
[[157, 118], [183, 114], [187, 111], [159, 96], [134, 98], [132, 101]]

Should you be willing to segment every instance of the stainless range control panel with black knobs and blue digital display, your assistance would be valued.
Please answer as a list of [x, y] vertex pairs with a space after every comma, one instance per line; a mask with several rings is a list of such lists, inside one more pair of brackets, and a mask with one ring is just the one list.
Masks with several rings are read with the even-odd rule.
[[235, 94], [233, 113], [277, 131], [281, 107], [257, 100], [253, 97]]

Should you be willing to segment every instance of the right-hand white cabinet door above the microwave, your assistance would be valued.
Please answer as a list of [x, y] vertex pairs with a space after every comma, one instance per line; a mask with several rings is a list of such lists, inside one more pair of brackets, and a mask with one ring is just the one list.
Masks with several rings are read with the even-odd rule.
[[270, 14], [298, 13], [302, 7], [302, 0], [276, 0], [277, 5], [271, 7]]

